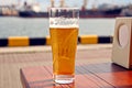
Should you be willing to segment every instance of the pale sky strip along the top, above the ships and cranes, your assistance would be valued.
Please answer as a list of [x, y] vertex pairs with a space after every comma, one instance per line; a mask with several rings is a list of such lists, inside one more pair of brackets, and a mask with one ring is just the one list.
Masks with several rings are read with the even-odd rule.
[[[47, 7], [51, 4], [51, 0], [0, 0], [0, 4], [8, 4], [8, 3], [16, 3], [16, 1], [29, 1], [31, 3], [32, 1], [40, 2], [42, 10], [47, 10]], [[82, 6], [84, 0], [65, 0], [65, 4], [68, 7], [78, 7], [80, 8]], [[132, 0], [88, 0], [87, 8], [90, 9], [92, 4], [98, 6], [101, 3], [111, 3], [111, 4], [128, 4], [132, 3]], [[55, 0], [55, 7], [59, 6], [59, 0]]]

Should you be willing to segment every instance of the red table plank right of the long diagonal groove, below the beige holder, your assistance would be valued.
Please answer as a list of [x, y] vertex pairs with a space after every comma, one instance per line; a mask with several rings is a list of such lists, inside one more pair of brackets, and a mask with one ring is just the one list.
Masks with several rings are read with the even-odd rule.
[[92, 64], [81, 66], [106, 82], [116, 88], [132, 88], [132, 70], [125, 69], [119, 65], [111, 63]]

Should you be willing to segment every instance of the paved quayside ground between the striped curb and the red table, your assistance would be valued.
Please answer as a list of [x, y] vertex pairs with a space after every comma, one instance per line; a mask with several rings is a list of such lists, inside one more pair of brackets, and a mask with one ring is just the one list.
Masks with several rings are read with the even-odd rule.
[[[111, 63], [112, 44], [78, 45], [77, 64]], [[23, 88], [20, 69], [52, 66], [51, 46], [0, 47], [0, 88]]]

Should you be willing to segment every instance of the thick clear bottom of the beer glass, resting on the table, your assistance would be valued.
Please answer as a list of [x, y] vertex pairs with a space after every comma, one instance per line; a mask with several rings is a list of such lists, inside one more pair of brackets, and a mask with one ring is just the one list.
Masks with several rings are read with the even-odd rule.
[[54, 81], [57, 84], [72, 84], [74, 80], [74, 75], [54, 75]]

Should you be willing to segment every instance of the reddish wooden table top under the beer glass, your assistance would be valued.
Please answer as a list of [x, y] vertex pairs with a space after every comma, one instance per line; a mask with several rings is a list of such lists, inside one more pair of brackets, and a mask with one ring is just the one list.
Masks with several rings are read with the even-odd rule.
[[75, 82], [58, 85], [52, 79], [52, 66], [20, 70], [23, 88], [132, 88], [132, 70], [112, 63], [76, 66]]

